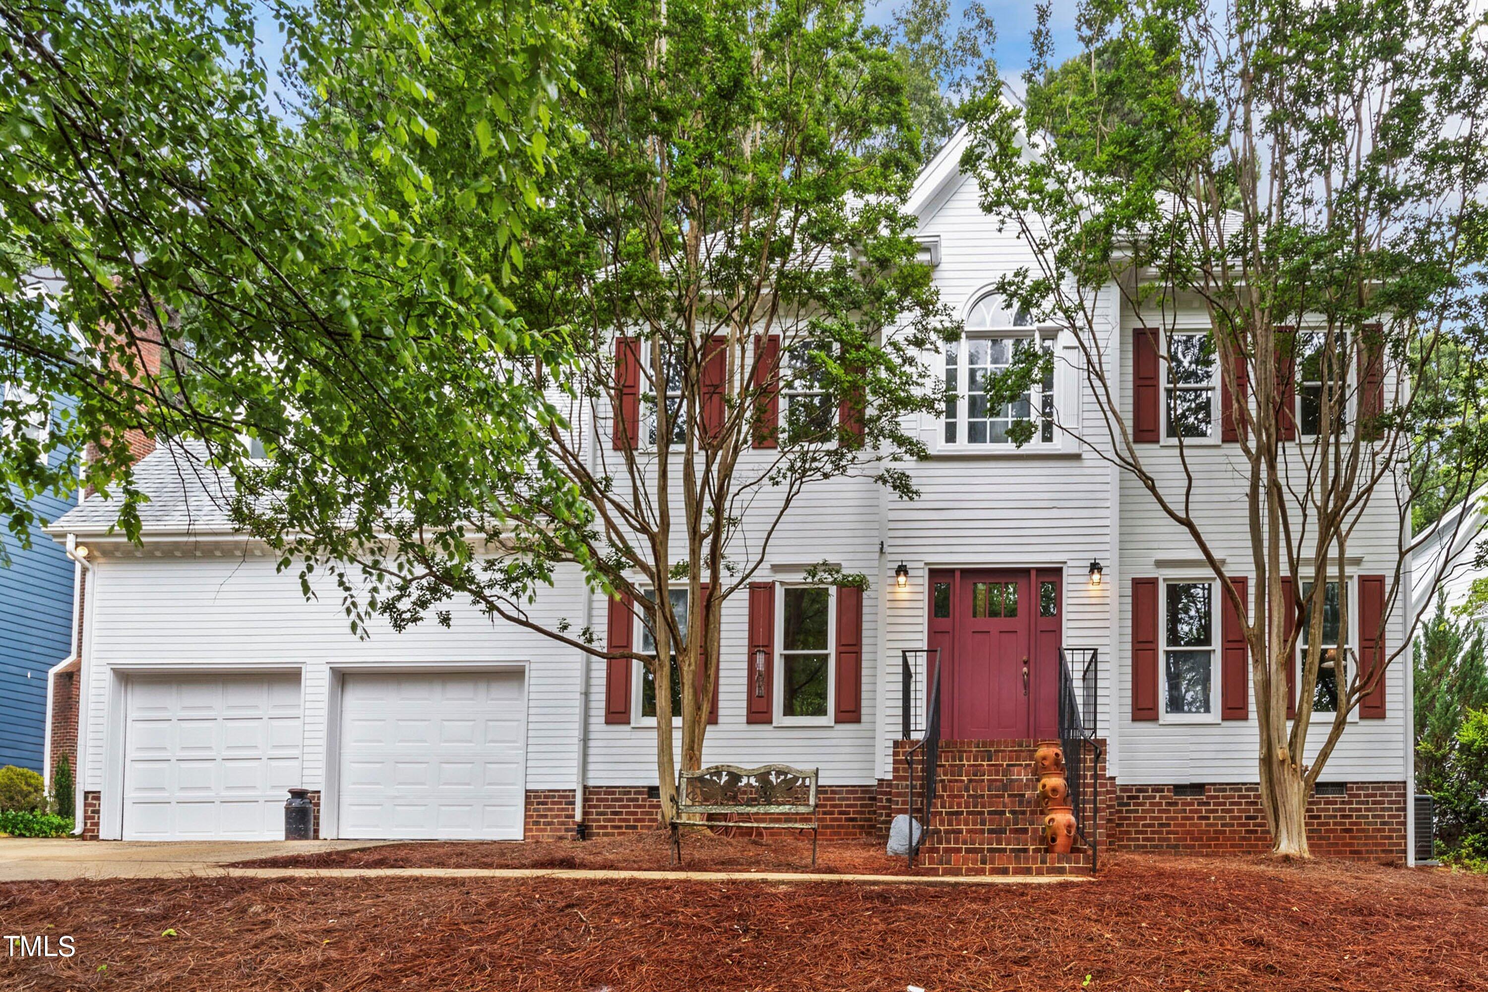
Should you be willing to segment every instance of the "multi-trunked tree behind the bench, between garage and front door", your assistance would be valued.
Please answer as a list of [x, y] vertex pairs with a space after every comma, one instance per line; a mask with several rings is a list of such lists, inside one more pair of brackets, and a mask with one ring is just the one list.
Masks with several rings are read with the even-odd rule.
[[[573, 80], [543, 208], [512, 238], [512, 320], [562, 358], [478, 350], [451, 422], [406, 437], [417, 458], [277, 458], [237, 513], [396, 628], [467, 601], [643, 666], [667, 817], [679, 764], [701, 763], [725, 604], [809, 486], [912, 495], [891, 460], [920, 454], [900, 421], [934, 409], [918, 355], [951, 323], [902, 210], [921, 161], [903, 71], [860, 3], [618, 1], [583, 22]], [[521, 466], [481, 455], [509, 430], [485, 390], [531, 397]], [[612, 637], [531, 608], [573, 570], [610, 598]]]

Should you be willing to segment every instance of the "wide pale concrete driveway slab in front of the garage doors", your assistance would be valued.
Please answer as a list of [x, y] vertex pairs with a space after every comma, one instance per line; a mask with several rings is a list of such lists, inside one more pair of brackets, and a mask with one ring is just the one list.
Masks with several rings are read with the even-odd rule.
[[231, 861], [373, 848], [382, 840], [74, 840], [0, 837], [0, 882], [213, 875]]

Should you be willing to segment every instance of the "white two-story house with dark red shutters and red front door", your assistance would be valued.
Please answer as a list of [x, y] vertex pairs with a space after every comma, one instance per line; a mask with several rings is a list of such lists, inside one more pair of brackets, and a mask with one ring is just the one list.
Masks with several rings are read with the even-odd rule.
[[[1150, 495], [1055, 428], [1104, 431], [1080, 351], [991, 293], [1027, 250], [981, 211], [958, 158], [960, 138], [930, 162], [911, 202], [942, 299], [966, 323], [963, 341], [931, 355], [958, 399], [914, 424], [931, 452], [908, 467], [921, 495], [905, 501], [844, 477], [798, 500], [766, 570], [725, 605], [704, 760], [820, 769], [824, 833], [873, 834], [894, 809], [906, 709], [911, 736], [924, 726], [929, 651], [939, 650], [948, 761], [955, 742], [1031, 753], [1033, 741], [1056, 736], [1062, 653], [1100, 747], [1089, 828], [1104, 846], [1265, 851], [1256, 708], [1234, 619], [1192, 540]], [[1170, 402], [1164, 390], [1181, 388], [1198, 513], [1226, 570], [1247, 576], [1241, 461], [1225, 437], [1217, 369], [1176, 352], [1173, 361], [1190, 364], [1181, 387], [1165, 385], [1170, 355], [1137, 332], [1117, 293], [1106, 312], [1107, 372], [1147, 464], [1171, 466], [1177, 485], [1171, 418], [1158, 410]], [[1178, 330], [1208, 326], [1196, 303], [1168, 317]], [[978, 375], [1004, 366], [1018, 339], [1052, 348], [1056, 373], [1027, 409], [988, 409]], [[1006, 434], [1018, 416], [1039, 421], [1022, 448]], [[112, 531], [107, 500], [83, 501], [52, 528], [88, 573], [77, 720], [85, 834], [278, 837], [290, 787], [317, 797], [323, 837], [518, 840], [656, 822], [641, 666], [460, 607], [448, 629], [359, 640], [339, 595], [307, 601], [272, 555], [232, 532], [170, 449], [138, 466], [137, 485], [152, 498], [138, 546]], [[1379, 614], [1376, 579], [1396, 565], [1393, 519], [1350, 547], [1356, 580], [1341, 592], [1359, 644]], [[823, 561], [866, 574], [869, 587], [806, 584]], [[1189, 622], [1170, 623], [1180, 611]], [[1388, 626], [1402, 638], [1405, 613]], [[589, 623], [612, 642], [646, 641], [634, 617], [589, 596], [576, 574], [534, 616]], [[1393, 665], [1348, 724], [1314, 803], [1314, 851], [1406, 858], [1408, 678], [1408, 666]]]

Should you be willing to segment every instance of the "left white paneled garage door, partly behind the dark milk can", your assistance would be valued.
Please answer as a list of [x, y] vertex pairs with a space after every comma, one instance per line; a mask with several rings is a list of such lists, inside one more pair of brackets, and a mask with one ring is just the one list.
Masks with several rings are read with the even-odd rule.
[[135, 677], [125, 840], [274, 840], [299, 782], [299, 675]]

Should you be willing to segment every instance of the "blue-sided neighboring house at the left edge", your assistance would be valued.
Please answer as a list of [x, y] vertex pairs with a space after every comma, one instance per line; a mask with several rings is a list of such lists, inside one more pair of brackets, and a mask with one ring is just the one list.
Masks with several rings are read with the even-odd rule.
[[[54, 415], [67, 403], [54, 400]], [[64, 452], [48, 457], [55, 464]], [[76, 492], [68, 498], [48, 492], [28, 506], [51, 522], [76, 503]], [[0, 525], [0, 544], [10, 556], [9, 568], [0, 565], [0, 764], [46, 775], [46, 674], [71, 651], [73, 562], [39, 526], [31, 528], [31, 547], [21, 547]]]

